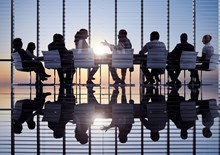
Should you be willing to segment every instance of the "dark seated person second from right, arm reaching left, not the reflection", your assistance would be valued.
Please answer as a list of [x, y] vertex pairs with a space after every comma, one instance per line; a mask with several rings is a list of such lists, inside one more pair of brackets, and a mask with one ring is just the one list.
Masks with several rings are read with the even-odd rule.
[[176, 47], [168, 54], [168, 75], [171, 78], [171, 85], [181, 85], [181, 81], [178, 79], [180, 75], [180, 57], [183, 51], [195, 51], [193, 45], [187, 42], [188, 36], [186, 33], [182, 33], [180, 35], [180, 43], [176, 45]]

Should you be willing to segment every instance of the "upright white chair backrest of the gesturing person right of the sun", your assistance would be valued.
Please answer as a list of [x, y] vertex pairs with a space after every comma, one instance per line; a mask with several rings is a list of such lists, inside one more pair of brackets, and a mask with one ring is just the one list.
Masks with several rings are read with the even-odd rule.
[[131, 68], [133, 67], [134, 49], [122, 49], [112, 52], [112, 67]]

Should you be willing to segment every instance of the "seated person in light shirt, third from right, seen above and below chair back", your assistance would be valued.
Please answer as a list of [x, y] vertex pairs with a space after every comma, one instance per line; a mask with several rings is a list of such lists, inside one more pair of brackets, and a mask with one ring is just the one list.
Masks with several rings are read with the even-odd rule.
[[[144, 55], [147, 53], [150, 49], [164, 49], [166, 51], [166, 46], [163, 42], [159, 41], [160, 34], [157, 31], [153, 31], [150, 34], [150, 42], [146, 43], [144, 47], [139, 52], [140, 55]], [[146, 65], [143, 64], [141, 67], [142, 72], [144, 73], [147, 81], [144, 82], [144, 84], [153, 84], [156, 82], [160, 82], [159, 79], [159, 69], [152, 69], [151, 72], [146, 68]], [[155, 76], [155, 80], [153, 79], [153, 76]]]

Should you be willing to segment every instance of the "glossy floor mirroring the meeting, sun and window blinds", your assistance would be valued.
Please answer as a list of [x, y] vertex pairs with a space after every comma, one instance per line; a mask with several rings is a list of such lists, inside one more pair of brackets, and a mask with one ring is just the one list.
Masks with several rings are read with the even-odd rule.
[[0, 154], [217, 155], [214, 87], [14, 86]]

